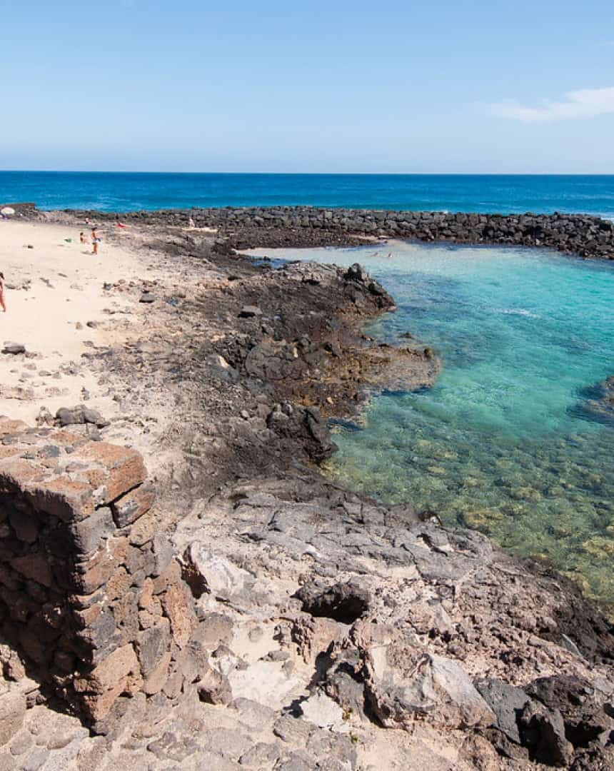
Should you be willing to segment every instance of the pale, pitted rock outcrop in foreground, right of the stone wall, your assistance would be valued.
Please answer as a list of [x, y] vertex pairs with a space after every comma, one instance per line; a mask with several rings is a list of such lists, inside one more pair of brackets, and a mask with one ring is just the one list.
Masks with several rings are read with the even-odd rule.
[[[201, 578], [201, 614], [224, 609], [234, 626], [224, 655], [234, 652], [235, 695], [254, 678], [258, 699], [299, 693], [293, 714], [333, 736], [366, 726], [416, 736], [427, 725], [480, 737], [481, 761], [466, 739], [455, 768], [588, 771], [614, 759], [614, 634], [571, 584], [480, 534], [420, 522], [411, 507], [307, 471], [243, 483], [198, 511], [174, 543]], [[214, 547], [197, 546], [213, 534]], [[577, 633], [563, 612], [574, 603]], [[254, 625], [254, 642], [271, 637], [250, 665], [235, 645]]]

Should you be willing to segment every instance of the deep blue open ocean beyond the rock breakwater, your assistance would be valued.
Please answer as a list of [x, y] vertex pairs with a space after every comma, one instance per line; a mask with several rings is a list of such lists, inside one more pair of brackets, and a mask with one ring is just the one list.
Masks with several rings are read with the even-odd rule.
[[501, 214], [556, 210], [614, 219], [614, 175], [0, 171], [0, 203], [15, 201], [110, 212], [309, 204]]

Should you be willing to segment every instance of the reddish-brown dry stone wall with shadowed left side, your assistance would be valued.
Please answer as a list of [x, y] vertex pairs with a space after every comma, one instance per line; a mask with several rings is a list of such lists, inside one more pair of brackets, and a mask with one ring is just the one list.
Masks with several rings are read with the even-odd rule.
[[139, 453], [0, 418], [0, 632], [32, 678], [104, 729], [120, 697], [202, 674], [191, 593]]

